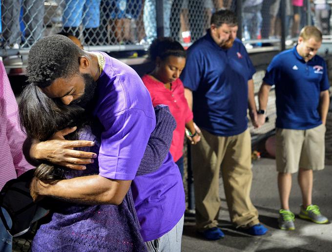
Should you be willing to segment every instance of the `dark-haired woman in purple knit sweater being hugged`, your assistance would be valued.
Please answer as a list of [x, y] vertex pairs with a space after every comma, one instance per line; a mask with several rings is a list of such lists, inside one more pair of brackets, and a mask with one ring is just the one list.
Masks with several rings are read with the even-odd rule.
[[[57, 139], [58, 132], [76, 126], [77, 130], [65, 135], [65, 139], [92, 141], [94, 146], [80, 147], [79, 150], [99, 154], [101, 125], [88, 117], [82, 107], [63, 105], [48, 98], [38, 86], [29, 84], [21, 94], [19, 113], [21, 126], [29, 138], [39, 141]], [[136, 176], [157, 170], [168, 154], [175, 121], [166, 106], [155, 107], [155, 114], [156, 128], [150, 135]], [[99, 173], [99, 162], [96, 159], [86, 165], [84, 170], [46, 162], [36, 168], [34, 175], [42, 187], [48, 187], [61, 180]], [[47, 203], [51, 210], [50, 219], [37, 231], [32, 241], [32, 252], [148, 251], [140, 233], [141, 227], [130, 188], [119, 204], [101, 200], [86, 203], [78, 198], [73, 200], [65, 197], [49, 198]]]

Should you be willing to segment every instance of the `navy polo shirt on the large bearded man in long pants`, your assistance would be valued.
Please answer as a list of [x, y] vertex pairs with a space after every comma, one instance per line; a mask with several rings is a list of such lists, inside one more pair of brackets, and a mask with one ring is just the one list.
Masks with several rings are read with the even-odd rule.
[[195, 123], [218, 136], [232, 136], [248, 127], [248, 81], [255, 69], [241, 41], [225, 50], [209, 31], [193, 43], [180, 78], [192, 90]]

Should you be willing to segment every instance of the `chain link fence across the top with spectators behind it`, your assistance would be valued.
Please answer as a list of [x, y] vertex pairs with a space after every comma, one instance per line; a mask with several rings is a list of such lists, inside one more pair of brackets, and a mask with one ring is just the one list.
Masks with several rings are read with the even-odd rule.
[[306, 24], [315, 24], [324, 35], [330, 35], [330, 3], [331, 0], [1, 0], [0, 44], [5, 50], [24, 50], [43, 36], [67, 32], [85, 46], [99, 46], [105, 51], [146, 49], [157, 36], [170, 36], [189, 45], [206, 33], [214, 11], [228, 8], [238, 14], [238, 37], [252, 48], [280, 43], [283, 33], [288, 40], [297, 38]]

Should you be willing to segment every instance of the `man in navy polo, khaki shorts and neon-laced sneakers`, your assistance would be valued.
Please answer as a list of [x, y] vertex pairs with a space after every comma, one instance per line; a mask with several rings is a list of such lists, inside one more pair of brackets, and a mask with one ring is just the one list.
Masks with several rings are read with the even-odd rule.
[[[311, 204], [312, 170], [324, 168], [325, 123], [329, 109], [328, 68], [316, 55], [322, 33], [305, 26], [297, 45], [276, 55], [268, 66], [259, 91], [259, 105], [264, 112], [271, 85], [275, 85], [276, 166], [281, 200], [279, 228], [294, 230], [294, 214], [290, 211], [291, 173], [298, 172], [302, 192], [299, 217], [315, 223], [327, 223], [318, 206]], [[265, 113], [258, 124], [265, 122]]]

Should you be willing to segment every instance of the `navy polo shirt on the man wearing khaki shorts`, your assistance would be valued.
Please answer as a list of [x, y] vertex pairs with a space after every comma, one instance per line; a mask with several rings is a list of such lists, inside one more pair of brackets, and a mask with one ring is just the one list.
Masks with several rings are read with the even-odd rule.
[[320, 92], [330, 87], [327, 71], [323, 58], [316, 55], [306, 63], [296, 46], [273, 58], [263, 81], [275, 84], [276, 127], [309, 129], [322, 124], [318, 106]]

